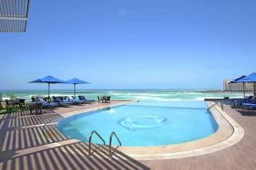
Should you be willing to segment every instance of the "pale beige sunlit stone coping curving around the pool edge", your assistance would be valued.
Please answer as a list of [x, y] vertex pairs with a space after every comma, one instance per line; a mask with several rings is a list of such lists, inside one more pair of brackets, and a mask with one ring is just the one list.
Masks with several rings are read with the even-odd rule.
[[[64, 118], [76, 114], [91, 112], [98, 109], [112, 108], [134, 101], [123, 101], [118, 104], [98, 107], [94, 109], [84, 109], [61, 114]], [[167, 146], [120, 146], [118, 149], [138, 160], [172, 159], [189, 156], [201, 156], [216, 152], [238, 143], [244, 135], [243, 128], [235, 122], [226, 112], [224, 112], [216, 102], [206, 101], [208, 108], [217, 121], [219, 128], [209, 137]], [[213, 107], [212, 107], [213, 106]], [[79, 141], [79, 140], [78, 140]]]

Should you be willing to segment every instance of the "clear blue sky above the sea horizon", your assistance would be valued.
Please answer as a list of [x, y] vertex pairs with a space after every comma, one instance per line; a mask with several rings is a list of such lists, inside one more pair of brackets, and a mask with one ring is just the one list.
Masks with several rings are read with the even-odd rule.
[[[222, 89], [256, 71], [256, 1], [32, 1], [26, 33], [0, 34], [0, 90]], [[68, 89], [54, 85], [55, 89]]]

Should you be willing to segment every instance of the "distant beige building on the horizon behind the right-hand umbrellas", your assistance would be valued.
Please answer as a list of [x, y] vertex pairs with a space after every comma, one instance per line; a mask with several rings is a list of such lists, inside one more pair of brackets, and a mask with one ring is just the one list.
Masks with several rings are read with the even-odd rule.
[[[231, 80], [223, 81], [223, 90], [225, 91], [242, 91], [243, 84], [242, 83], [230, 83]], [[252, 83], [244, 83], [244, 90], [253, 90]]]

